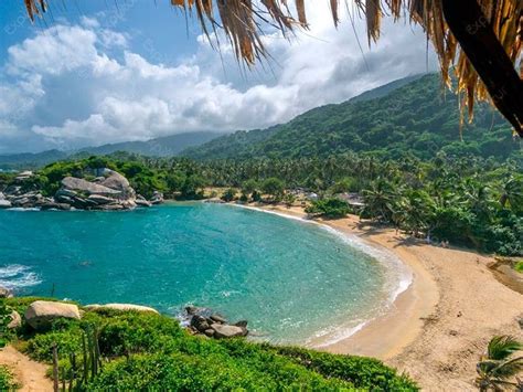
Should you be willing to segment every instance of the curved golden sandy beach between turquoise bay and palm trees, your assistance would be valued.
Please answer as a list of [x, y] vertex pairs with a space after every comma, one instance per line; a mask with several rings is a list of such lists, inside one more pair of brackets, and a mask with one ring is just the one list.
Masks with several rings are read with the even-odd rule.
[[[262, 210], [306, 218], [303, 209]], [[494, 258], [473, 251], [442, 248], [375, 229], [357, 216], [317, 220], [341, 233], [397, 255], [412, 271], [410, 286], [389, 311], [346, 339], [318, 348], [375, 357], [405, 371], [425, 391], [477, 391], [476, 363], [495, 335], [523, 339], [523, 296], [493, 276]]]

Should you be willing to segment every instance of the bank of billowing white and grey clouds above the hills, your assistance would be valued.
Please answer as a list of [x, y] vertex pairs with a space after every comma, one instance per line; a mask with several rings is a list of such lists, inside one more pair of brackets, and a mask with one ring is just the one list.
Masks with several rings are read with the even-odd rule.
[[[335, 30], [327, 8], [310, 15], [311, 30], [290, 44], [277, 32], [264, 36], [273, 60], [254, 72], [242, 72], [227, 45], [222, 64], [203, 38], [192, 56], [168, 64], [152, 44], [138, 54], [128, 34], [96, 19], [52, 27], [9, 49], [8, 77], [0, 78], [0, 152], [12, 148], [17, 129], [23, 150], [262, 128], [435, 70], [424, 34], [408, 25], [387, 22], [378, 44], [362, 52], [350, 23]], [[360, 40], [366, 43], [363, 33]], [[22, 142], [28, 138], [32, 144]]]

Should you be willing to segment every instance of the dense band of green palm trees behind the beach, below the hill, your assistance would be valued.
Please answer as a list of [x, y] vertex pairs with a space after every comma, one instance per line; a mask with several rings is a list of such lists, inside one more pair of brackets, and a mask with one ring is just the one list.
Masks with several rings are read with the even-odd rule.
[[[53, 194], [64, 176], [88, 176], [96, 167], [122, 172], [146, 197], [159, 190], [178, 199], [202, 199], [205, 187], [223, 187], [241, 189], [244, 202], [259, 201], [264, 193], [267, 202], [291, 204], [285, 189], [303, 188], [320, 195], [309, 212], [331, 218], [348, 211], [332, 199], [356, 192], [366, 204], [357, 211], [362, 218], [416, 236], [501, 255], [523, 254], [523, 159], [519, 158], [498, 162], [441, 152], [429, 161], [414, 157], [381, 161], [345, 153], [324, 159], [198, 162], [117, 153], [50, 165], [23, 187]], [[0, 191], [12, 181], [12, 176], [0, 177]]]

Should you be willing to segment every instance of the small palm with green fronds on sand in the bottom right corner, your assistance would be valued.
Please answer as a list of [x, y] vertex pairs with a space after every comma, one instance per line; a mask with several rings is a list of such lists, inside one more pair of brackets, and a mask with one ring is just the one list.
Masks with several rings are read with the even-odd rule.
[[512, 358], [516, 351], [523, 350], [523, 345], [511, 336], [493, 337], [487, 353], [476, 367], [476, 382], [480, 391], [502, 391], [503, 386], [517, 386], [519, 383], [509, 381], [523, 370], [523, 357]]

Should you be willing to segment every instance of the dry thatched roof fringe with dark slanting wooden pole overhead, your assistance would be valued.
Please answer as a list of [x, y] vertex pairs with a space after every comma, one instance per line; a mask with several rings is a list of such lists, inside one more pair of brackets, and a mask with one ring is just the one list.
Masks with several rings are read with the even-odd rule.
[[[51, 0], [49, 0], [51, 1]], [[461, 107], [473, 113], [474, 100], [490, 100], [523, 137], [523, 1], [522, 0], [345, 0], [366, 19], [370, 43], [380, 38], [382, 18], [409, 15], [421, 25], [439, 56], [444, 81], [457, 78]], [[46, 10], [47, 0], [24, 0], [31, 19]], [[248, 65], [267, 55], [260, 32], [270, 23], [284, 34], [307, 29], [305, 0], [295, 10], [285, 0], [171, 0], [194, 12], [210, 35], [223, 29], [238, 59]], [[314, 3], [316, 7], [318, 1]], [[340, 0], [330, 0], [333, 23]], [[217, 15], [216, 15], [217, 14]], [[520, 71], [516, 71], [520, 62]]]

